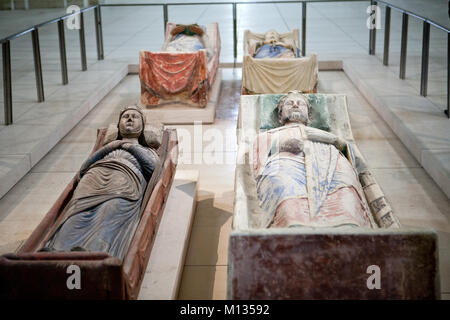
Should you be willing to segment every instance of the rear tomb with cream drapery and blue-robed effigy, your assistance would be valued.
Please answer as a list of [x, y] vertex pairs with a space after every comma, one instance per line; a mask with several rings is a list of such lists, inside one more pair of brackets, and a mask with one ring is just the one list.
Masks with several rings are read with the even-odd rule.
[[301, 57], [299, 31], [244, 33], [242, 94], [317, 92], [317, 56]]

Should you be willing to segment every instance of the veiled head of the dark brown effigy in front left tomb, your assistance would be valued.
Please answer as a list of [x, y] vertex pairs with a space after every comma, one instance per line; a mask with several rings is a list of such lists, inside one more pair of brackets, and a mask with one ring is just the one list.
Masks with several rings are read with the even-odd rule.
[[144, 142], [146, 144], [145, 139], [143, 139], [144, 127], [145, 117], [142, 110], [138, 106], [127, 106], [120, 111], [117, 139], [138, 138], [139, 143], [143, 144], [142, 142]]

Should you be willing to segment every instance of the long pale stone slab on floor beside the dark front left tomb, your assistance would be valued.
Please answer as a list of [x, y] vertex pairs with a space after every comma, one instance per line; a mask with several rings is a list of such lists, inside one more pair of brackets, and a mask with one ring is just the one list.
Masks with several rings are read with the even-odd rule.
[[139, 300], [174, 300], [178, 296], [196, 209], [198, 177], [197, 170], [177, 170], [175, 174]]

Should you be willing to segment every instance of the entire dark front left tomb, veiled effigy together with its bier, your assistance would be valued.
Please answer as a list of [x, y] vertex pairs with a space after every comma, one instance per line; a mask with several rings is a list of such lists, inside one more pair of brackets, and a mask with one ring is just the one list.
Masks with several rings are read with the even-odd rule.
[[[0, 297], [137, 298], [178, 155], [176, 131], [144, 119], [127, 107], [119, 124], [98, 130], [39, 226], [18, 253], [0, 257]], [[68, 286], [73, 266], [80, 290]]]

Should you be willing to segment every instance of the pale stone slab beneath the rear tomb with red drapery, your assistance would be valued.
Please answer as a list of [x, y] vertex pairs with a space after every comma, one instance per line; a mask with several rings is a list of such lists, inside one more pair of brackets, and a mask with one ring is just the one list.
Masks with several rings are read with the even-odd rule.
[[196, 121], [204, 124], [214, 123], [221, 82], [222, 70], [218, 69], [216, 80], [214, 81], [211, 95], [205, 108], [196, 108], [177, 103], [152, 108], [141, 107], [144, 109], [147, 121], [156, 121], [163, 124], [193, 124]]

